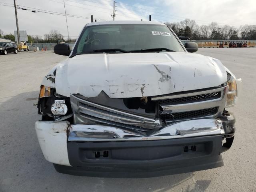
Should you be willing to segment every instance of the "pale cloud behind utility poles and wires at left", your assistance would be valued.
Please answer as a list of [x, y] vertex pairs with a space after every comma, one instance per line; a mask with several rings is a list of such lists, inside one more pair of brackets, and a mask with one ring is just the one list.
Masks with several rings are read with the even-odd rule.
[[[1, 0], [1, 2], [10, 3], [10, 0]], [[94, 2], [84, 0], [65, 0], [67, 14], [88, 18], [67, 17], [69, 35], [72, 38], [76, 38], [82, 28], [88, 22], [91, 22], [91, 15], [93, 15], [94, 19], [97, 19], [97, 21], [100, 21], [100, 19], [113, 20], [111, 17], [111, 14], [113, 14], [112, 1], [94, 0]], [[50, 30], [57, 29], [65, 37], [68, 36], [65, 16], [46, 14], [42, 12], [31, 12], [33, 8], [38, 8], [42, 11], [47, 10], [64, 14], [63, 0], [16, 0], [16, 4], [31, 7], [27, 8], [30, 10], [18, 9], [20, 30], [26, 30], [27, 34], [30, 35], [39, 35], [43, 37], [44, 34], [48, 33]], [[0, 6], [0, 12], [1, 15], [6, 15], [5, 19], [0, 20], [0, 28], [5, 32], [5, 34], [13, 34], [14, 30], [16, 30], [14, 7]], [[7, 17], [7, 15], [9, 16]], [[134, 11], [126, 9], [125, 5], [118, 7], [116, 20], [140, 20], [141, 18], [142, 16], [139, 16]]]

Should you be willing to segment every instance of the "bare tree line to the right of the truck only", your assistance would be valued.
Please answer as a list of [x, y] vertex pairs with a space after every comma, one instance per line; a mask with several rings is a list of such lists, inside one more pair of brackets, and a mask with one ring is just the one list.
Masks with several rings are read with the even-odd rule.
[[166, 22], [177, 36], [186, 36], [190, 40], [255, 40], [256, 25], [234, 27], [220, 26], [217, 22], [199, 26], [195, 20]]

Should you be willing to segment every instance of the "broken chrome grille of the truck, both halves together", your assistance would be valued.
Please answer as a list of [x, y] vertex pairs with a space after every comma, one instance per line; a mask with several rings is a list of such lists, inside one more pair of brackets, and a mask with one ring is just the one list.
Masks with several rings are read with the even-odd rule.
[[70, 101], [75, 124], [108, 124], [145, 132], [161, 128], [165, 123], [203, 117], [216, 118], [224, 110], [227, 91], [228, 86], [225, 86], [194, 93], [152, 97], [158, 109], [155, 118], [102, 106], [76, 95], [70, 95]]

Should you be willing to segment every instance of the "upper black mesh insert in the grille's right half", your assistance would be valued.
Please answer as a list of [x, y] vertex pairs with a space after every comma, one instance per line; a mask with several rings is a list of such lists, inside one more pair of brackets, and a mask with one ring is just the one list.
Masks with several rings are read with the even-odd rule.
[[184, 104], [184, 103], [200, 102], [200, 101], [218, 99], [218, 98], [220, 98], [220, 96], [221, 96], [221, 92], [219, 91], [219, 92], [200, 94], [200, 95], [195, 95], [195, 96], [164, 99], [164, 100], [160, 100], [159, 103]]

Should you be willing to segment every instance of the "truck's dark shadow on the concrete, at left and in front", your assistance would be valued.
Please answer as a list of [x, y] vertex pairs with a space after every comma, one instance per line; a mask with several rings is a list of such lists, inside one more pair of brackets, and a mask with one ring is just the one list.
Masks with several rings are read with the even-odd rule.
[[38, 91], [0, 98], [0, 191], [37, 192], [204, 192], [210, 180], [195, 180], [197, 173], [155, 178], [94, 178], [55, 171], [44, 159], [34, 123]]

